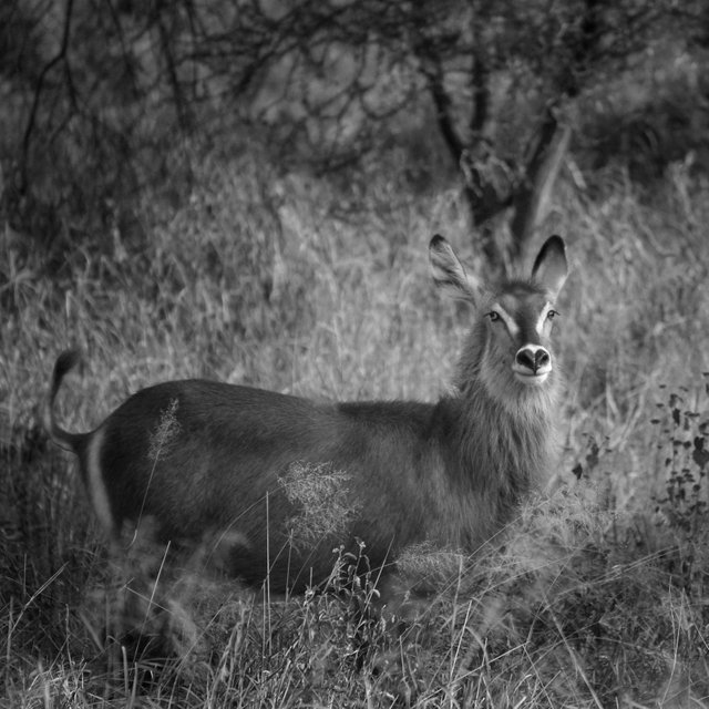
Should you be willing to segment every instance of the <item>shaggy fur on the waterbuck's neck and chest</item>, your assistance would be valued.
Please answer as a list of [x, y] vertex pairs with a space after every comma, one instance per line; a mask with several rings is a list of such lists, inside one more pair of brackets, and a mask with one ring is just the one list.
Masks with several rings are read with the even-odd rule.
[[479, 323], [464, 350], [455, 391], [438, 407], [442, 435], [452, 439], [444, 485], [448, 500], [455, 501], [453, 508], [449, 502], [443, 510], [450, 522], [438, 536], [467, 548], [476, 548], [510, 521], [521, 500], [542, 484], [556, 454], [556, 367], [541, 387], [524, 386], [508, 371], [493, 377], [483, 371], [485, 346], [484, 323]]

